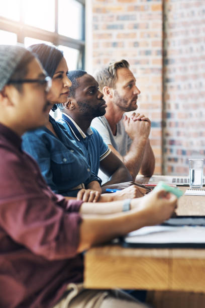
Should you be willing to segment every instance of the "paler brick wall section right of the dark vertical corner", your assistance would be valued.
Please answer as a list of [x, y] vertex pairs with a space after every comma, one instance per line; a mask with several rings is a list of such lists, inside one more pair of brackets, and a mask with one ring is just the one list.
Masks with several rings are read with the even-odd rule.
[[165, 2], [164, 172], [205, 153], [205, 1]]

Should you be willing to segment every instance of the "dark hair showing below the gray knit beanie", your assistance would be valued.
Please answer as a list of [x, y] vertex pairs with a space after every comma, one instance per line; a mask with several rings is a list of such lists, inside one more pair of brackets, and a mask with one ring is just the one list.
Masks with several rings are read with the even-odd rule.
[[[10, 80], [21, 80], [25, 79], [25, 76], [28, 74], [28, 65], [35, 58], [35, 56], [30, 52], [26, 51], [24, 57], [21, 59], [15, 71], [13, 72]], [[22, 84], [13, 84], [13, 86], [19, 91], [22, 91]]]

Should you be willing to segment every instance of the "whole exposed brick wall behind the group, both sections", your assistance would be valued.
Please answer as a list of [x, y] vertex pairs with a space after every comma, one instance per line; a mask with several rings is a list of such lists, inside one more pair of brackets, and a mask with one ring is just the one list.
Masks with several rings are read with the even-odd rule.
[[141, 91], [138, 110], [152, 121], [155, 174], [186, 174], [186, 158], [203, 154], [205, 144], [205, 1], [86, 0], [86, 6], [87, 71], [129, 61]]

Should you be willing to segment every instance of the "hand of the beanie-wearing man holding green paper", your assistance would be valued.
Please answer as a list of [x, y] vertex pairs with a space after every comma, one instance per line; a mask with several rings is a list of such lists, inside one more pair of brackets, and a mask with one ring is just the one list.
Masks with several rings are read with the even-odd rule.
[[131, 206], [143, 210], [147, 225], [159, 224], [170, 218], [177, 208], [177, 198], [165, 190], [152, 191], [141, 198], [140, 203], [139, 199], [132, 200]]

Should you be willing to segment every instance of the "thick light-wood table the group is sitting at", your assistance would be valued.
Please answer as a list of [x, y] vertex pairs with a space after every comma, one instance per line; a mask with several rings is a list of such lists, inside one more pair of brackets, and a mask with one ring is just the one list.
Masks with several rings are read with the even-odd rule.
[[[187, 188], [180, 187], [184, 191]], [[182, 196], [177, 214], [205, 215], [205, 197]], [[197, 299], [190, 305], [189, 293], [205, 293], [205, 249], [133, 249], [119, 245], [94, 247], [85, 254], [84, 285], [86, 288], [183, 291], [186, 293], [180, 294], [186, 295], [182, 297], [186, 298], [187, 305], [180, 299], [182, 305], [179, 307], [205, 307], [205, 294], [194, 294]], [[159, 297], [159, 294], [165, 293], [154, 294], [156, 300], [156, 294]], [[170, 307], [176, 308], [173, 292], [171, 298], [173, 305]], [[158, 303], [155, 302], [155, 307], [169, 307], [167, 301], [164, 306], [159, 302], [162, 304], [160, 299]]]

